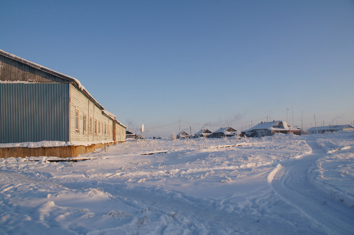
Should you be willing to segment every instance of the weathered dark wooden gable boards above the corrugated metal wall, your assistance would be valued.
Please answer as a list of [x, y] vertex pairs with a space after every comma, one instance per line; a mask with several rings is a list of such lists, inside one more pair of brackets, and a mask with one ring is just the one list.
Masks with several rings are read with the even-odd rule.
[[0, 55], [0, 81], [70, 82], [28, 64]]

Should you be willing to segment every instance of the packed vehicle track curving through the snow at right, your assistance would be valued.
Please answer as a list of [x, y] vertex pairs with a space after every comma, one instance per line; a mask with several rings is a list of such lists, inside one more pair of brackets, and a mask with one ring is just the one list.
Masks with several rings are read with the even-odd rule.
[[277, 167], [269, 182], [273, 190], [289, 204], [297, 207], [327, 234], [353, 234], [353, 210], [318, 189], [309, 172], [319, 157], [326, 154], [314, 141], [306, 141], [312, 153]]

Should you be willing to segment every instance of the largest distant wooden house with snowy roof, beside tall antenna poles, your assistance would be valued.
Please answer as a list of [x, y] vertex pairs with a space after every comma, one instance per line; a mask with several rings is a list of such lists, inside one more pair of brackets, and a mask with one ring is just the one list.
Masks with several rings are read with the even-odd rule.
[[301, 129], [287, 124], [286, 121], [261, 122], [250, 129], [243, 131], [242, 136], [261, 137], [272, 136], [274, 133], [293, 133], [301, 135]]

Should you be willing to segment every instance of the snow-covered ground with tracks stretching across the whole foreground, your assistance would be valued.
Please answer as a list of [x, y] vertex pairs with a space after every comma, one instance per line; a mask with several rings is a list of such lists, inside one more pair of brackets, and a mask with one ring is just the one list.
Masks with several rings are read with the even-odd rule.
[[83, 157], [95, 159], [1, 159], [0, 234], [354, 234], [353, 132], [125, 142]]

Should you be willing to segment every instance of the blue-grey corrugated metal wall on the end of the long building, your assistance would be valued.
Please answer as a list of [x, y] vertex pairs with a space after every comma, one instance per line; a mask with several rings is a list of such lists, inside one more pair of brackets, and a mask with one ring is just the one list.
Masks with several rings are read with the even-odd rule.
[[0, 143], [69, 141], [69, 85], [1, 83]]

